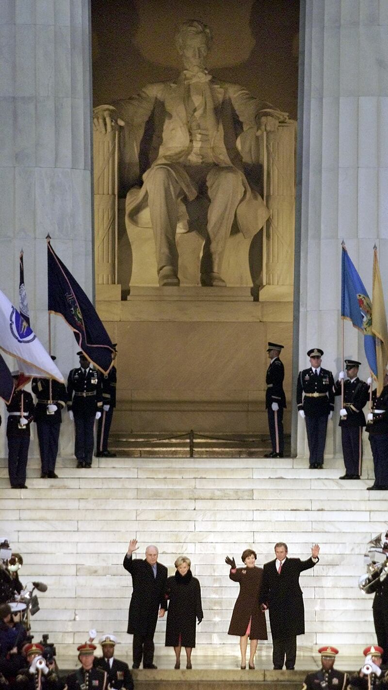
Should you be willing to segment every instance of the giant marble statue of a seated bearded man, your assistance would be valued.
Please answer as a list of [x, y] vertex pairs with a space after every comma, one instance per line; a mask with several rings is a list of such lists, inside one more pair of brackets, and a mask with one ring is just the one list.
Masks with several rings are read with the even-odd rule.
[[[265, 107], [237, 84], [213, 79], [206, 70], [211, 31], [204, 23], [184, 23], [175, 38], [184, 67], [177, 83], [153, 83], [138, 95], [98, 106], [93, 126], [101, 133], [122, 126], [124, 166], [133, 131], [140, 126], [151, 138], [146, 163], [144, 156], [142, 161], [143, 184], [129, 191], [126, 217], [140, 227], [149, 226], [151, 217], [159, 285], [179, 286], [175, 234], [177, 228], [188, 229], [188, 204], [205, 194], [205, 247], [210, 262], [201, 284], [224, 286], [222, 259], [234, 219], [244, 237], [251, 238], [269, 217], [262, 197], [244, 174], [238, 139], [244, 132], [260, 136], [276, 130], [287, 114]], [[142, 141], [137, 142], [139, 159]]]

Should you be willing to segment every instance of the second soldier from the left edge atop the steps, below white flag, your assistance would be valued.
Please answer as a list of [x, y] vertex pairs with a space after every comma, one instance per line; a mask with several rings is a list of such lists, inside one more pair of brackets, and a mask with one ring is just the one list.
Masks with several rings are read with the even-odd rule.
[[[54, 361], [57, 359], [51, 355]], [[32, 379], [32, 393], [37, 396], [35, 422], [41, 455], [41, 478], [57, 479], [55, 463], [58, 455], [59, 431], [61, 430], [61, 410], [66, 406], [65, 384], [55, 379]]]

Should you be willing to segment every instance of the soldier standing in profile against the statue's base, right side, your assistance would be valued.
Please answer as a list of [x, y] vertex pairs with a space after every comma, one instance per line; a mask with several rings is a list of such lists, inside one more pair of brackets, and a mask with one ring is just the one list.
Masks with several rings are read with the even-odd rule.
[[266, 370], [265, 407], [272, 451], [264, 457], [283, 457], [284, 453], [283, 410], [286, 407], [286, 396], [283, 391], [284, 365], [279, 359], [282, 348], [283, 345], [269, 343], [267, 349], [271, 363]]

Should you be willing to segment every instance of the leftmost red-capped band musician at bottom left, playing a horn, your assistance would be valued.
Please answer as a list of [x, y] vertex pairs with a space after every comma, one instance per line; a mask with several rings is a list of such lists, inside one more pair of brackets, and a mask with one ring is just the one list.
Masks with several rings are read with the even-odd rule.
[[43, 658], [44, 648], [41, 644], [26, 644], [23, 653], [28, 661], [28, 668], [21, 669], [17, 674], [14, 687], [17, 690], [57, 690], [58, 676], [55, 662], [47, 664]]

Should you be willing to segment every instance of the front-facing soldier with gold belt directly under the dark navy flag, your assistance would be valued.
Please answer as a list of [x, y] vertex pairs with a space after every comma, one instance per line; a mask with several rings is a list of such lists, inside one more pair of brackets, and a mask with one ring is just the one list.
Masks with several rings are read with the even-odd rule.
[[95, 419], [99, 420], [102, 410], [101, 374], [90, 367], [82, 351], [77, 355], [80, 366], [68, 375], [68, 413], [74, 420], [77, 467], [91, 467]]

